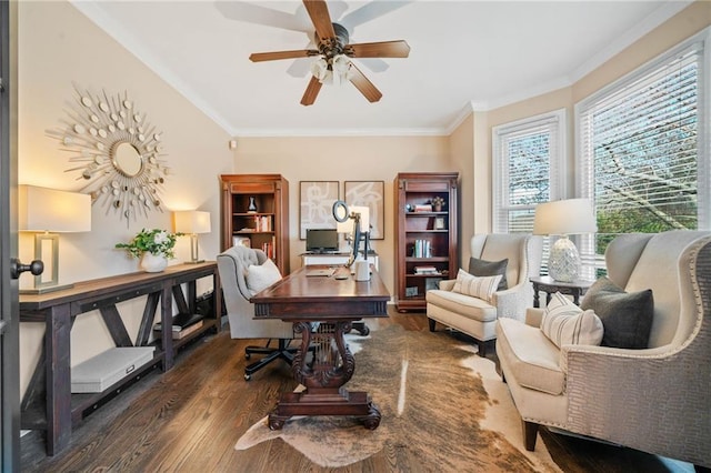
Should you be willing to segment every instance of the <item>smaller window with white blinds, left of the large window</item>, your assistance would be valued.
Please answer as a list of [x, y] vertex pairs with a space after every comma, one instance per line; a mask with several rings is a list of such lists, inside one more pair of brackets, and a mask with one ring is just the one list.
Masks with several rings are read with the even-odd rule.
[[565, 111], [493, 128], [493, 231], [531, 232], [535, 205], [562, 197]]

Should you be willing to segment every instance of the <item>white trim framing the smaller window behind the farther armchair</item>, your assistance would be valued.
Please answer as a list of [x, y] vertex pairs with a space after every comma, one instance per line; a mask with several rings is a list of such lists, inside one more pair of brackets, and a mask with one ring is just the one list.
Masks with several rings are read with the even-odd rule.
[[[528, 117], [525, 119], [517, 120], [513, 122], [500, 124], [497, 127], [492, 127], [491, 129], [491, 142], [492, 142], [492, 197], [491, 199], [491, 222], [493, 227], [493, 231], [503, 231], [503, 229], [497, 228], [498, 213], [501, 208], [501, 195], [502, 195], [502, 170], [503, 165], [501, 160], [503, 157], [501, 155], [501, 137], [517, 132], [520, 130], [527, 130], [530, 128], [540, 127], [542, 124], [555, 123], [558, 125], [558, 155], [551, 157], [550, 169], [555, 170], [553, 173], [553, 178], [550, 177], [550, 200], [559, 200], [562, 199], [565, 194], [565, 175], [567, 175], [567, 162], [565, 155], [567, 152], [567, 137], [568, 137], [568, 128], [567, 128], [567, 111], [565, 109], [554, 110], [552, 112], [541, 113], [534, 117]], [[534, 208], [534, 205], [531, 205]]]

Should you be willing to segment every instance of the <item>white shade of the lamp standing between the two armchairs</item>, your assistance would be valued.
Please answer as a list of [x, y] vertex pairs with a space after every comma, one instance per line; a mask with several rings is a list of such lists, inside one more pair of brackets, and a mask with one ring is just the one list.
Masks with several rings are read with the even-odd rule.
[[537, 205], [533, 234], [568, 235], [598, 231], [589, 199], [568, 199]]

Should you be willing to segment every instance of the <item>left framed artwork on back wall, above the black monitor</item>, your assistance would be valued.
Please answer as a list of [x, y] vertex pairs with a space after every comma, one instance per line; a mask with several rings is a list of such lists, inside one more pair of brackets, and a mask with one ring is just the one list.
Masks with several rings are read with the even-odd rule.
[[340, 199], [338, 181], [301, 181], [299, 195], [300, 240], [306, 240], [307, 229], [336, 229], [332, 209]]

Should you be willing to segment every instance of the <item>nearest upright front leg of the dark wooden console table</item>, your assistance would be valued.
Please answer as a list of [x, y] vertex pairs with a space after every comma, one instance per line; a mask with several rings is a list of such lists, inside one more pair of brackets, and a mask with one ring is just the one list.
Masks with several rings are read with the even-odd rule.
[[71, 313], [54, 305], [47, 319], [44, 369], [47, 380], [47, 453], [53, 455], [71, 437]]

